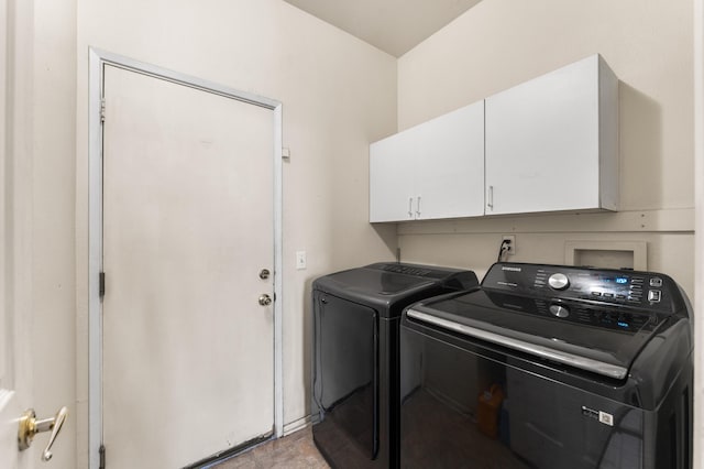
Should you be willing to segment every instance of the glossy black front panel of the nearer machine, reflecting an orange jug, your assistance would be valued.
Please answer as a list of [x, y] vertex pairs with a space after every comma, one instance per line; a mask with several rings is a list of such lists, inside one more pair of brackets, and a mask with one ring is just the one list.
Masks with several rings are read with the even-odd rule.
[[426, 330], [400, 327], [403, 468], [679, 467], [645, 463], [648, 445], [662, 441], [658, 462], [670, 450], [647, 411], [536, 374], [525, 358], [486, 343]]

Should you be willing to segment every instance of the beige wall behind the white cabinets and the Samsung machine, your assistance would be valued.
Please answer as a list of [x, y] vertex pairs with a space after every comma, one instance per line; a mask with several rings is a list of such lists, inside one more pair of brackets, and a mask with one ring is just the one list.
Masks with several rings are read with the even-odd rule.
[[525, 262], [564, 261], [564, 242], [648, 242], [648, 269], [693, 295], [693, 6], [637, 0], [483, 1], [398, 61], [399, 129], [587, 55], [619, 78], [620, 209], [399, 226], [408, 261], [483, 273], [502, 233]]

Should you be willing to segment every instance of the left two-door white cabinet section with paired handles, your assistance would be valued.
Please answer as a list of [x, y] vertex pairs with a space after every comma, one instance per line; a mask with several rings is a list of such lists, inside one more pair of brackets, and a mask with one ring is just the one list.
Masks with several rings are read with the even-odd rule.
[[370, 221], [484, 214], [484, 101], [370, 146]]

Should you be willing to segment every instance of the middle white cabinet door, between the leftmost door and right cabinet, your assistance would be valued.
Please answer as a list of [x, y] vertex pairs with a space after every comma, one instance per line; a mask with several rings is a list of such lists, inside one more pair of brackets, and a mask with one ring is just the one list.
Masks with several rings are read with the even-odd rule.
[[484, 214], [484, 101], [420, 126], [416, 218]]

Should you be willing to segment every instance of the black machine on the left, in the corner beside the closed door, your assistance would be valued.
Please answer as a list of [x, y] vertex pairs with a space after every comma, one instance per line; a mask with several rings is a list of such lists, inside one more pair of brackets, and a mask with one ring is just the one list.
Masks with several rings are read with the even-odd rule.
[[400, 314], [422, 298], [477, 285], [470, 271], [403, 263], [314, 282], [312, 435], [332, 467], [398, 467]]

